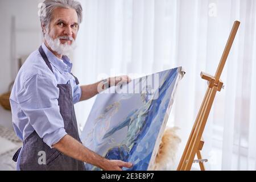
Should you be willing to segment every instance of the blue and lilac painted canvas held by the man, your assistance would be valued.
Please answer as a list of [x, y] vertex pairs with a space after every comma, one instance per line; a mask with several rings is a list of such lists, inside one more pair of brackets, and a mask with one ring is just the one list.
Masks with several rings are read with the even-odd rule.
[[[84, 146], [104, 158], [134, 164], [123, 170], [150, 170], [182, 77], [182, 68], [178, 67], [98, 94], [81, 133]], [[100, 170], [85, 166], [87, 170]]]

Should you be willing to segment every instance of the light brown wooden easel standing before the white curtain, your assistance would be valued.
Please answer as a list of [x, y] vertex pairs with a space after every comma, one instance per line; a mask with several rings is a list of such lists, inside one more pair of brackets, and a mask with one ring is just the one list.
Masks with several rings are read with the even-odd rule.
[[[214, 97], [216, 96], [216, 92], [220, 92], [222, 89], [223, 82], [220, 80], [220, 76], [226, 63], [226, 59], [228, 58], [232, 44], [234, 42], [234, 38], [236, 37], [239, 26], [240, 22], [234, 22], [232, 31], [229, 35], [228, 42], [226, 43], [226, 47], [224, 49], [224, 53], [221, 57], [220, 64], [218, 65], [215, 76], [211, 76], [207, 73], [201, 72], [201, 78], [208, 81], [208, 89], [205, 93], [199, 113], [197, 114], [191, 134], [189, 135], [188, 142], [180, 159], [177, 171], [189, 171], [191, 170], [193, 163], [199, 163], [200, 169], [202, 171], [205, 170], [204, 162], [207, 162], [207, 159], [202, 159], [201, 156], [200, 151], [202, 150], [204, 145], [204, 141], [201, 138], [205, 128], [205, 124], [207, 123]], [[196, 154], [198, 160], [194, 160]]]

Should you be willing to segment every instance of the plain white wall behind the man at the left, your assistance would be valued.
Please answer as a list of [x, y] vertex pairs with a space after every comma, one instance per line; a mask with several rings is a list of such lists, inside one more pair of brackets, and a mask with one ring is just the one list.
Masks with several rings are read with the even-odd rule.
[[[39, 0], [0, 0], [1, 44], [0, 44], [0, 94], [8, 91], [14, 81], [18, 60], [12, 59], [12, 51], [18, 57], [27, 55], [39, 47], [41, 42], [40, 21], [38, 17]], [[16, 35], [11, 34], [11, 17], [16, 23]], [[16, 46], [11, 48], [15, 38]], [[0, 107], [0, 125], [12, 127], [11, 112]]]

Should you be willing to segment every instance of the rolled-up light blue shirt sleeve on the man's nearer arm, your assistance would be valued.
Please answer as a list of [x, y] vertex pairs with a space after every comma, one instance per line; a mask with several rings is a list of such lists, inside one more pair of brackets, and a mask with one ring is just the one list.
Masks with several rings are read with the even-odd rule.
[[49, 147], [67, 135], [57, 101], [59, 88], [54, 79], [43, 75], [26, 78], [17, 98], [31, 126]]

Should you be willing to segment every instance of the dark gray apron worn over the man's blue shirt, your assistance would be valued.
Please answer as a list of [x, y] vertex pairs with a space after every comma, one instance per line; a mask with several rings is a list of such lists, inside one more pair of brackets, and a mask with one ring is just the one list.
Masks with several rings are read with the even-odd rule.
[[[42, 46], [39, 48], [39, 52], [46, 62], [49, 69], [52, 71], [51, 64], [43, 51]], [[53, 73], [53, 71], [52, 71]], [[71, 73], [72, 74], [72, 73]], [[75, 76], [74, 76], [75, 77]], [[79, 81], [75, 77], [76, 84]], [[64, 129], [68, 135], [78, 140], [80, 143], [80, 137], [77, 130], [77, 122], [75, 109], [73, 105], [72, 89], [71, 84], [58, 84], [57, 87], [60, 90], [58, 102], [60, 107], [60, 114], [64, 121]], [[46, 164], [39, 164], [40, 151], [44, 151], [46, 154]], [[19, 156], [20, 149], [15, 153], [13, 160], [16, 162]], [[42, 153], [41, 153], [42, 154]], [[20, 154], [20, 170], [21, 171], [84, 171], [84, 163], [73, 159], [67, 155], [62, 154], [55, 148], [50, 148], [43, 139], [34, 131], [23, 141], [23, 150]]]

